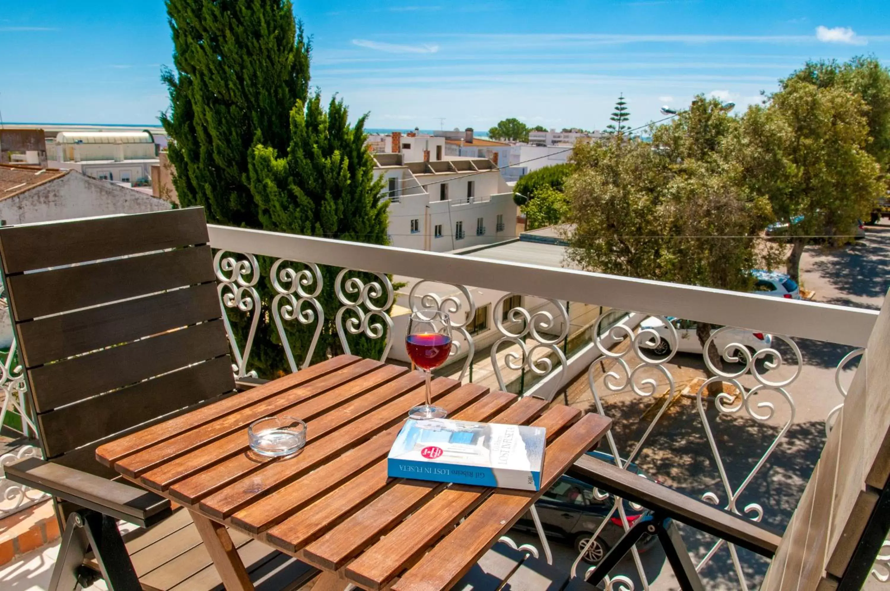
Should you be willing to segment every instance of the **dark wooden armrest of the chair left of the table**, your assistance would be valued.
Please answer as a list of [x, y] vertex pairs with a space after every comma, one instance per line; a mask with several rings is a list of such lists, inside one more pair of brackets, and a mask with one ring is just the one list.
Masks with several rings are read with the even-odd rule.
[[150, 527], [172, 514], [170, 501], [124, 482], [26, 457], [5, 466], [6, 478], [115, 519]]

